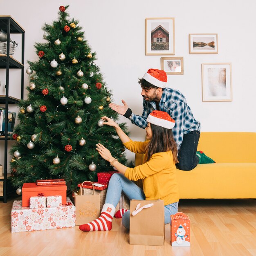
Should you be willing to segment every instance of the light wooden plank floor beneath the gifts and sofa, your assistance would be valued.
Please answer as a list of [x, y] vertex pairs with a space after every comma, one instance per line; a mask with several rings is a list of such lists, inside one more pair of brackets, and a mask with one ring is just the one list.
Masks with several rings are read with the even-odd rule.
[[[256, 200], [181, 200], [191, 219], [191, 247], [171, 247], [170, 225], [164, 246], [129, 245], [120, 219], [111, 231], [82, 232], [78, 227], [11, 233], [13, 200], [0, 201], [0, 255], [8, 256], [256, 256]], [[150, 225], [150, 224], [149, 224]]]

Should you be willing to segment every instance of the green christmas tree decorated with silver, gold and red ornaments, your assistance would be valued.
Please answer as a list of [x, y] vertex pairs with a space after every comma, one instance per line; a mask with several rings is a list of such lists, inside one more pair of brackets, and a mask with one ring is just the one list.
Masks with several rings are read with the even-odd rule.
[[[64, 178], [72, 191], [77, 184], [97, 181], [99, 171], [112, 171], [99, 156], [96, 144], [106, 146], [125, 164], [124, 146], [115, 129], [102, 124], [101, 117], [117, 120], [108, 107], [108, 90], [96, 54], [84, 38], [78, 20], [70, 19], [68, 6], [61, 6], [58, 20], [44, 24], [47, 43], [36, 43], [38, 61], [29, 63], [26, 100], [20, 100], [10, 153], [12, 184], [39, 179]], [[119, 124], [127, 132], [125, 123]]]

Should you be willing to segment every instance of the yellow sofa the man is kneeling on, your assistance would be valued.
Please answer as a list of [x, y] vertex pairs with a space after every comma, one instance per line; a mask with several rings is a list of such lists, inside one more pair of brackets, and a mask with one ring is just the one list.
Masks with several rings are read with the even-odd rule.
[[216, 164], [176, 169], [180, 198], [256, 198], [256, 132], [201, 132], [198, 150]]

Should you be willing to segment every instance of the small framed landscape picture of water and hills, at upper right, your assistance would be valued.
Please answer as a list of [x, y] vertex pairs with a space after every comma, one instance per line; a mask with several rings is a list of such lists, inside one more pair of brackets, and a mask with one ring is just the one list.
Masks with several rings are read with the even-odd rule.
[[218, 34], [189, 34], [189, 54], [218, 54]]

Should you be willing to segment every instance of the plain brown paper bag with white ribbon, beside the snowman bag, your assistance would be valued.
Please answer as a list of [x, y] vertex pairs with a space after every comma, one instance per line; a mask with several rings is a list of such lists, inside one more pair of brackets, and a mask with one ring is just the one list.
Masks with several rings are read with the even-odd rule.
[[164, 245], [164, 201], [130, 201], [130, 245]]

